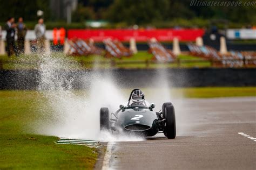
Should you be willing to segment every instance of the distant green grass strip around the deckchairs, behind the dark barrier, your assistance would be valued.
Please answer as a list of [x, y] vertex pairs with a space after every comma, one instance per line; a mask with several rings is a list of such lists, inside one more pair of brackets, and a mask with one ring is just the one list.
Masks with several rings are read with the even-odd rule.
[[[57, 58], [65, 58], [61, 53], [53, 53], [52, 56]], [[32, 69], [37, 67], [37, 63], [41, 56], [35, 54], [32, 55], [21, 55], [19, 57], [3, 55], [0, 56], [0, 68], [1, 61], [3, 62], [3, 69]], [[191, 55], [179, 55], [180, 65], [177, 63], [150, 63], [146, 64], [146, 61], [152, 61], [153, 55], [147, 51], [139, 51], [131, 57], [123, 56], [121, 59], [118, 58], [105, 58], [100, 55], [89, 55], [89, 56], [67, 56], [66, 59], [75, 60], [80, 63], [80, 68], [187, 68], [187, 67], [210, 67], [211, 63], [208, 61], [204, 62], [186, 62], [188, 60], [195, 61], [200, 58]], [[136, 63], [131, 63], [137, 61]], [[97, 63], [98, 62], [98, 63]], [[106, 63], [100, 63], [106, 62]], [[114, 66], [111, 65], [114, 62]], [[130, 63], [129, 63], [130, 62]], [[186, 63], [185, 63], [186, 62]], [[71, 66], [72, 67], [72, 66]]]

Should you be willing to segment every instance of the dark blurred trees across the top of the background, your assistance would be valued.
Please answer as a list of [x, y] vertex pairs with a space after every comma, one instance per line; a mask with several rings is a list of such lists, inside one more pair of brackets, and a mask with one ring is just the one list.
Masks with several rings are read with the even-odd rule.
[[[239, 2], [244, 4], [248, 1]], [[134, 24], [153, 27], [209, 27], [214, 23], [212, 21], [220, 28], [240, 28], [256, 24], [256, 5], [191, 6], [190, 3], [191, 0], [78, 0], [77, 9], [72, 12], [72, 23], [66, 24], [64, 17], [52, 15], [50, 0], [0, 0], [0, 24], [9, 16], [22, 16], [26, 25], [32, 29], [38, 19], [37, 10], [44, 11], [48, 29], [60, 26], [82, 29], [86, 27], [86, 20], [105, 20], [109, 22], [105, 26], [107, 28], [129, 27]]]

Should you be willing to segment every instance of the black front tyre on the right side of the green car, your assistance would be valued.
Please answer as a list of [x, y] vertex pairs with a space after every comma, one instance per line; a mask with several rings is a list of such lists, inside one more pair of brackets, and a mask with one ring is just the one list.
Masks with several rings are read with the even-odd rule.
[[174, 139], [176, 137], [176, 121], [175, 111], [173, 105], [167, 105], [165, 108], [165, 128], [164, 134], [168, 139]]

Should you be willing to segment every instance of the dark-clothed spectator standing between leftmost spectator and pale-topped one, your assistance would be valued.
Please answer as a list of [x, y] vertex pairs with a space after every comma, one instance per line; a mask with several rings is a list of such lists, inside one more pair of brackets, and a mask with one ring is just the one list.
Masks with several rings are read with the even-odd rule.
[[17, 25], [18, 34], [18, 52], [19, 54], [24, 53], [24, 40], [26, 36], [26, 26], [23, 23], [23, 18], [20, 17]]

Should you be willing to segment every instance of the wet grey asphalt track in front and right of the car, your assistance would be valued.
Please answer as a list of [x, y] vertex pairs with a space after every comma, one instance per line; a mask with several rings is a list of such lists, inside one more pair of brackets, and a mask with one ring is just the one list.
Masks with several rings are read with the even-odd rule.
[[113, 143], [110, 169], [256, 169], [256, 140], [251, 139], [256, 138], [255, 97], [173, 104], [176, 139], [158, 134]]

